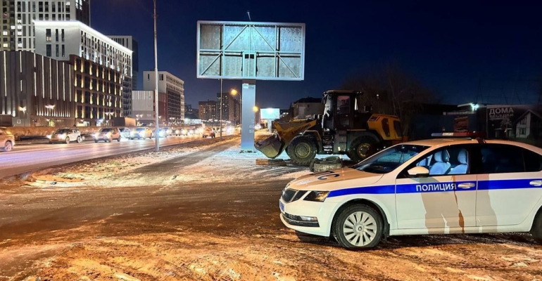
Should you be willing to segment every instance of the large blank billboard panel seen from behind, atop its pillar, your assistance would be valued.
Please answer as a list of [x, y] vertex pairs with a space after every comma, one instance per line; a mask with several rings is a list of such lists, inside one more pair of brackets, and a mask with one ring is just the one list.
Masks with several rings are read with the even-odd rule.
[[301, 81], [305, 24], [198, 21], [197, 77]]

